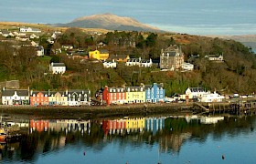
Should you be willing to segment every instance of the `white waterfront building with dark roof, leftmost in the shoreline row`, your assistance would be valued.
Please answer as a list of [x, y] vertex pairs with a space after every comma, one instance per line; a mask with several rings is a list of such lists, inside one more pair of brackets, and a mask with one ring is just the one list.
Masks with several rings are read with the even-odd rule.
[[3, 105], [29, 105], [28, 89], [5, 89], [2, 91]]

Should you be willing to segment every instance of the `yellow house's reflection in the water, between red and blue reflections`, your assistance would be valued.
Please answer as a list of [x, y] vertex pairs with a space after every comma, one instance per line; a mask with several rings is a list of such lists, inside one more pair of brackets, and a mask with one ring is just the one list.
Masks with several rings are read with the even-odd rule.
[[126, 118], [125, 119], [125, 128], [127, 129], [127, 132], [134, 130], [144, 130], [144, 118]]

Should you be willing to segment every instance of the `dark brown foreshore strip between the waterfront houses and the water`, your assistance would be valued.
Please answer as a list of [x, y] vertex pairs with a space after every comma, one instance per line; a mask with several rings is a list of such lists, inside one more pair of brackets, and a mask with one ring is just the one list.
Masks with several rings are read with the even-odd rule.
[[89, 107], [33, 107], [0, 106], [3, 116], [16, 115], [22, 118], [117, 118], [145, 117], [152, 115], [181, 115], [191, 113], [193, 103], [158, 103]]

